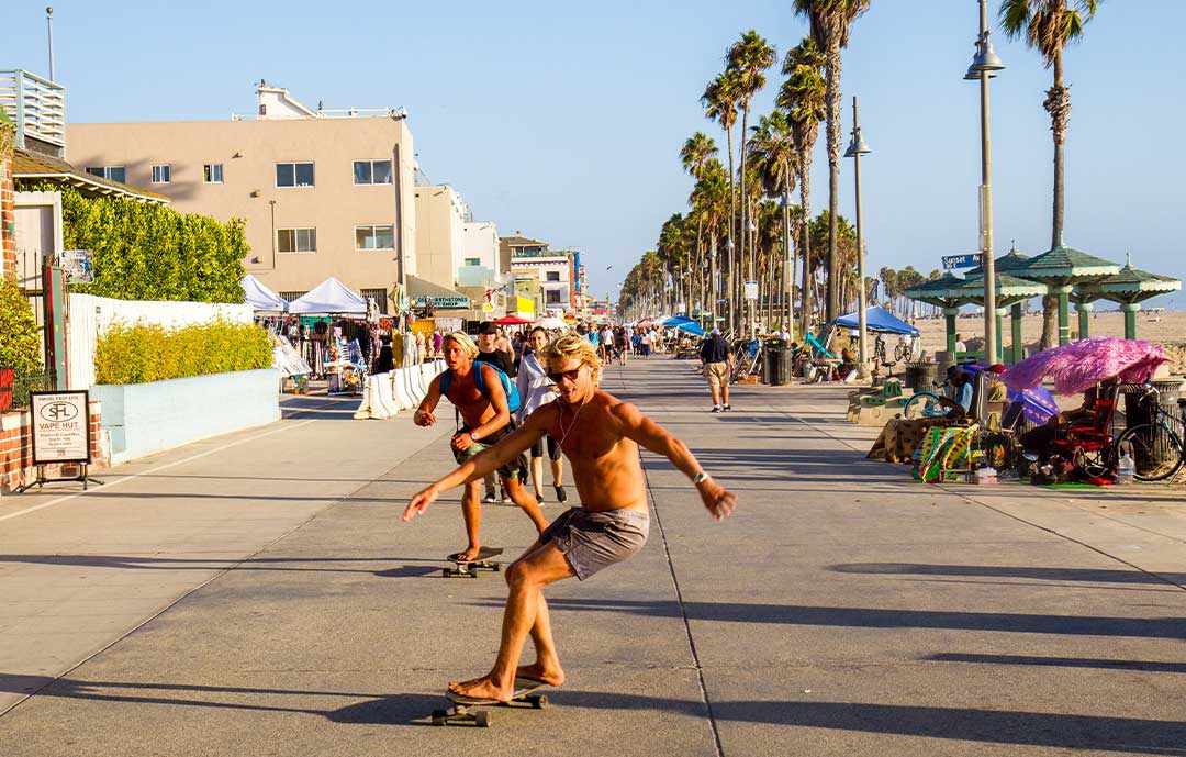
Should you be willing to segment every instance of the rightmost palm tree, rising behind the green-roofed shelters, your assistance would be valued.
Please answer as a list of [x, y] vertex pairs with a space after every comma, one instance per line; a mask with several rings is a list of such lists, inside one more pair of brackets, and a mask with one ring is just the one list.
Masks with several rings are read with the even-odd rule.
[[[1073, 2], [1073, 7], [1071, 7]], [[1054, 84], [1046, 90], [1042, 107], [1050, 114], [1054, 134], [1054, 218], [1050, 246], [1063, 243], [1063, 145], [1071, 119], [1071, 89], [1063, 84], [1063, 49], [1083, 38], [1083, 28], [1096, 15], [1101, 0], [1002, 0], [1001, 28], [1013, 38], [1024, 38], [1054, 69]], [[1041, 349], [1054, 346], [1058, 295], [1042, 298]]]

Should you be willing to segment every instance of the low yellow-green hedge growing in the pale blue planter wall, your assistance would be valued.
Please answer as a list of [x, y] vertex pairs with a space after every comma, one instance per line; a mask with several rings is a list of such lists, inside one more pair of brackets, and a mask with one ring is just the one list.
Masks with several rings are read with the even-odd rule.
[[166, 331], [114, 324], [95, 349], [95, 383], [148, 383], [272, 367], [272, 339], [251, 324], [216, 322]]

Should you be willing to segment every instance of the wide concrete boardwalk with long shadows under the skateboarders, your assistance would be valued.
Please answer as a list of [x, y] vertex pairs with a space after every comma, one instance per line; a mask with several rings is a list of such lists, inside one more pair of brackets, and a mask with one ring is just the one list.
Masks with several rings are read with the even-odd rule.
[[[710, 415], [688, 363], [604, 383], [739, 509], [712, 522], [644, 454], [648, 547], [549, 591], [553, 707], [427, 726], [489, 668], [505, 597], [440, 577], [455, 494], [398, 522], [451, 426], [304, 397], [85, 495], [0, 501], [0, 755], [1186, 755], [1180, 489], [929, 486], [862, 459], [840, 388], [740, 387]], [[509, 553], [533, 539], [514, 507], [484, 519]]]

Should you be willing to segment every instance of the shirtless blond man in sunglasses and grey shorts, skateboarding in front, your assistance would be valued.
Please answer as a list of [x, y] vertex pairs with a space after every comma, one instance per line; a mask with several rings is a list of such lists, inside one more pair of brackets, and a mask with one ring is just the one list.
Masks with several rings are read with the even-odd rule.
[[[480, 482], [547, 433], [560, 440], [572, 464], [582, 507], [557, 517], [506, 570], [510, 593], [495, 667], [479, 679], [448, 685], [451, 692], [474, 699], [509, 701], [516, 676], [553, 686], [565, 682], [543, 587], [572, 575], [584, 580], [625, 560], [646, 543], [650, 514], [638, 460], [639, 444], [665, 456], [695, 483], [714, 520], [728, 516], [737, 504], [733, 492], [709, 478], [682, 441], [632, 405], [598, 389], [601, 364], [587, 339], [578, 335], [560, 337], [544, 349], [543, 357], [560, 396], [531, 413], [522, 427], [497, 446], [466, 460], [417, 494], [403, 511], [403, 520], [410, 521], [441, 492], [463, 483]], [[518, 660], [529, 634], [536, 659], [521, 667]]]

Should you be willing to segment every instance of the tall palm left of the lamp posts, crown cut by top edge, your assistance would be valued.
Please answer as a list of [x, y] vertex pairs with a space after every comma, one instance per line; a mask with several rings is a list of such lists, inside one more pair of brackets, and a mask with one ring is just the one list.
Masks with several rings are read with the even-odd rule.
[[[848, 32], [861, 13], [869, 9], [869, 0], [795, 0], [795, 12], [811, 24], [811, 38], [824, 53], [828, 103], [828, 212], [837, 217], [840, 204], [840, 69], [841, 50], [848, 46]], [[836, 227], [828, 230], [828, 300], [824, 317], [830, 322], [840, 300], [840, 280], [836, 275]]]

